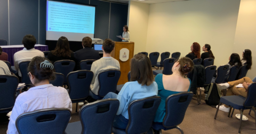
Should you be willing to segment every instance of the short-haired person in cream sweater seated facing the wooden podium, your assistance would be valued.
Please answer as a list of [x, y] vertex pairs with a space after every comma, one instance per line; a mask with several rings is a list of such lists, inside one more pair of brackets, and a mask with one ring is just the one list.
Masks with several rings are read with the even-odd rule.
[[110, 56], [114, 47], [115, 42], [113, 40], [105, 39], [102, 44], [103, 57], [92, 63], [91, 71], [94, 73], [94, 76], [91, 83], [91, 90], [95, 95], [98, 95], [99, 91], [99, 72], [111, 69], [120, 70], [119, 62]]

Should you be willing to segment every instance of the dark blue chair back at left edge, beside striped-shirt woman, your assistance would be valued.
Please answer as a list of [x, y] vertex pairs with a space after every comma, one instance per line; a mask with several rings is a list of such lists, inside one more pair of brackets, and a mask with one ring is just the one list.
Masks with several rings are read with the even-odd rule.
[[15, 103], [15, 91], [19, 78], [11, 75], [0, 75], [0, 113], [12, 111]]

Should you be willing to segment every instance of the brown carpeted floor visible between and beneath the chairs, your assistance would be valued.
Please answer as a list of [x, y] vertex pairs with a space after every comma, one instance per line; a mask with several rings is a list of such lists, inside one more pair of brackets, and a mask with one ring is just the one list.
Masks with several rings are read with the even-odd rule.
[[[202, 96], [203, 98], [203, 96]], [[72, 118], [70, 122], [79, 121], [78, 113], [75, 112], [75, 103], [73, 104]], [[202, 101], [201, 105], [197, 105], [196, 97], [193, 98], [188, 106], [185, 119], [179, 125], [184, 133], [189, 134], [205, 134], [205, 133], [238, 133], [239, 120], [233, 116], [228, 118], [228, 113], [219, 111], [217, 120], [214, 120], [216, 108], [210, 107]], [[235, 110], [234, 115], [239, 113]], [[254, 113], [251, 116], [248, 114], [249, 110], [245, 110], [244, 114], [249, 118], [249, 121], [242, 122], [241, 133], [256, 133]], [[6, 133], [8, 121], [6, 114], [0, 114], [0, 134]], [[179, 130], [167, 130], [163, 131], [163, 134], [180, 133]]]

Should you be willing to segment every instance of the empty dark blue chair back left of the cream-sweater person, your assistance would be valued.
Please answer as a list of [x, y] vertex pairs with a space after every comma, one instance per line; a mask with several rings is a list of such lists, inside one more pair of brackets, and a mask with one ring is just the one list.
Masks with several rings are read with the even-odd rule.
[[92, 78], [93, 72], [89, 70], [79, 70], [68, 74], [68, 93], [71, 101], [85, 100], [89, 96]]

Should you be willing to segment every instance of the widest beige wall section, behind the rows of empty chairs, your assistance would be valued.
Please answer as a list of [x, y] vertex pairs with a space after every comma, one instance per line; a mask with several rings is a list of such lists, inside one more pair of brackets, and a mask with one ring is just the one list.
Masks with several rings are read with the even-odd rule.
[[212, 47], [214, 64], [227, 64], [233, 52], [239, 3], [193, 0], [150, 4], [146, 51], [181, 52], [185, 56], [193, 42], [201, 45], [201, 51], [207, 43]]

